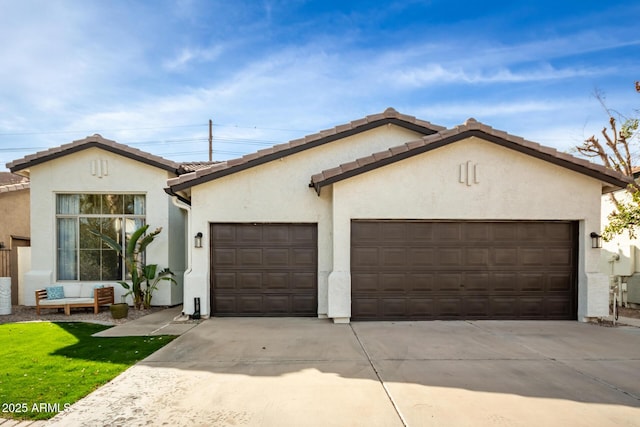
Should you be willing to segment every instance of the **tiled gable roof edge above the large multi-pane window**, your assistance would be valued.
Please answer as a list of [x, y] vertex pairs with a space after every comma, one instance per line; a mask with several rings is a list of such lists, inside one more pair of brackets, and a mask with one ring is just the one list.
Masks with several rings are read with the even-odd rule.
[[7, 167], [11, 172], [21, 171], [32, 166], [64, 157], [69, 154], [77, 153], [78, 151], [86, 150], [92, 147], [119, 154], [121, 156], [128, 157], [141, 163], [155, 166], [157, 168], [164, 169], [176, 174], [178, 168], [180, 167], [179, 163], [138, 150], [137, 148], [131, 148], [128, 145], [119, 144], [110, 139], [105, 139], [99, 134], [88, 136], [84, 139], [79, 139], [69, 144], [61, 145], [60, 147], [50, 148], [45, 151], [40, 151], [35, 154], [25, 156], [22, 159], [14, 160], [11, 163], [7, 163]]

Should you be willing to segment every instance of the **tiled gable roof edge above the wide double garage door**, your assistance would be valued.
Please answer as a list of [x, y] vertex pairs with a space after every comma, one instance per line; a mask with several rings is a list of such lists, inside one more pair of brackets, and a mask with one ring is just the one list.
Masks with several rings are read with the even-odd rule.
[[[620, 172], [574, 157], [570, 154], [559, 152], [554, 148], [528, 141], [519, 136], [495, 130], [490, 126], [484, 125], [471, 118], [463, 125], [455, 128], [443, 130], [436, 134], [425, 136], [422, 139], [410, 141], [406, 144], [392, 147], [386, 151], [374, 153], [353, 162], [324, 170], [311, 177], [311, 183], [309, 186], [315, 188], [316, 192], [320, 194], [320, 190], [324, 186], [331, 185], [335, 182], [360, 175], [379, 167], [395, 163], [408, 157], [425, 153], [472, 136], [482, 138], [483, 140], [493, 142], [503, 147], [528, 154], [584, 175], [588, 175], [616, 188], [625, 188], [629, 183], [633, 182], [632, 178]], [[607, 189], [607, 191], [611, 190], [613, 189]]]

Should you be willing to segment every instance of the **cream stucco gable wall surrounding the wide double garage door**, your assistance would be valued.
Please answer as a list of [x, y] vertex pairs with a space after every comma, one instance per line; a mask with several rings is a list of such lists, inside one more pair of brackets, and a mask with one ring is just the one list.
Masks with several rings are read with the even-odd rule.
[[[478, 183], [459, 182], [459, 167], [477, 165]], [[465, 168], [466, 169], [466, 168]], [[599, 251], [601, 183], [585, 175], [469, 138], [333, 185], [334, 270], [329, 316], [350, 315], [351, 219], [580, 221], [578, 317], [608, 314]]]

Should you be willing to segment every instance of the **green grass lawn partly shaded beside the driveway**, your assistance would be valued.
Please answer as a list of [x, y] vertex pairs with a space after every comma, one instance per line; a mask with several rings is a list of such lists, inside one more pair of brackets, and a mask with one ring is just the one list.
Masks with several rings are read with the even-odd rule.
[[93, 338], [91, 323], [0, 325], [0, 418], [49, 419], [175, 337]]

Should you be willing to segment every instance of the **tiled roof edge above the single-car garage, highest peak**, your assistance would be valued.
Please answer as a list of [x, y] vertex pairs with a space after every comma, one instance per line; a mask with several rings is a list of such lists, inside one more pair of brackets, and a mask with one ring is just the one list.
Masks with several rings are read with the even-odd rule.
[[204, 182], [231, 175], [254, 166], [262, 165], [300, 151], [318, 147], [387, 124], [394, 124], [422, 133], [423, 135], [431, 135], [445, 129], [442, 126], [431, 124], [425, 120], [398, 113], [393, 108], [387, 108], [380, 114], [369, 115], [362, 119], [323, 130], [313, 135], [307, 135], [304, 138], [294, 139], [287, 143], [275, 145], [271, 148], [266, 148], [237, 159], [216, 163], [204, 169], [180, 175], [168, 181], [170, 187], [168, 190], [171, 193], [181, 191]]

